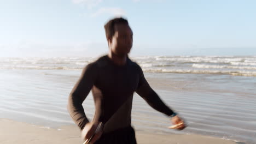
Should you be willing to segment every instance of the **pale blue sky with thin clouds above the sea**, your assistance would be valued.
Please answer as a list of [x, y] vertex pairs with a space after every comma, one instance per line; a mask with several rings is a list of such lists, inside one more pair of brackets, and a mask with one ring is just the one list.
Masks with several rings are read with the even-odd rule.
[[0, 0], [0, 56], [98, 56], [125, 17], [130, 55], [256, 55], [256, 1]]

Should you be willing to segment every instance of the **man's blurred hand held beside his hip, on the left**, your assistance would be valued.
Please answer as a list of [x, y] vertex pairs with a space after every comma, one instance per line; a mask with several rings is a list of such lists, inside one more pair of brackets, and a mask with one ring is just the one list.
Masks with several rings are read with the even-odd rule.
[[[85, 125], [85, 127], [84, 127], [84, 129], [82, 130], [82, 133], [81, 133], [81, 137], [82, 137], [83, 141], [86, 141], [86, 140], [88, 141], [91, 138], [91, 136], [94, 135], [98, 124], [100, 124], [100, 122], [98, 122], [98, 123], [89, 122]], [[94, 143], [96, 140], [100, 139], [100, 137], [103, 133], [103, 127], [102, 126], [97, 131], [97, 133], [92, 137], [92, 139], [90, 140], [90, 144]]]

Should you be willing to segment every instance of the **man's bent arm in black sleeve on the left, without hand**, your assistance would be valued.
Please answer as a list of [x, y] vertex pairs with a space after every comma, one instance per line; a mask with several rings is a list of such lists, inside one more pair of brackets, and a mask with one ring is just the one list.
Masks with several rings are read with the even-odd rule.
[[95, 63], [88, 64], [79, 77], [68, 97], [67, 109], [75, 124], [83, 130], [89, 122], [82, 106], [83, 101], [89, 94], [97, 78], [97, 68]]

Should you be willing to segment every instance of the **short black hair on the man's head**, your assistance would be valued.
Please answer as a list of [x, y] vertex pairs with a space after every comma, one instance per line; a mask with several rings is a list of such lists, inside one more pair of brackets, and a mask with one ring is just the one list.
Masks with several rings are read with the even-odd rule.
[[114, 33], [115, 33], [115, 29], [114, 26], [117, 24], [125, 24], [125, 25], [129, 25], [128, 21], [126, 19], [124, 19], [123, 17], [117, 17], [114, 19], [109, 20], [105, 25], [105, 32], [106, 32], [106, 37], [113, 37]]

